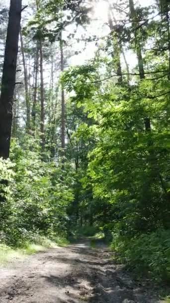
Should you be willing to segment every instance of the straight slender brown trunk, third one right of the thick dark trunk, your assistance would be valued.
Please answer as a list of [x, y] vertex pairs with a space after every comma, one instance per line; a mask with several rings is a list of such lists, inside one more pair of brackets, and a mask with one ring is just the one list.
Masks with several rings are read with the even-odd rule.
[[41, 147], [42, 152], [45, 148], [45, 135], [44, 135], [44, 78], [43, 78], [43, 51], [42, 41], [40, 40], [40, 96], [41, 96], [41, 113], [40, 113], [40, 133], [41, 133]]

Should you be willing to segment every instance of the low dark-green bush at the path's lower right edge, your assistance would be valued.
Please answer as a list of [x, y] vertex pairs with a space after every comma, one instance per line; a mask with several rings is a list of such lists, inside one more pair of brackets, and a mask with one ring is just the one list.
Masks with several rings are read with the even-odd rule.
[[170, 281], [170, 230], [158, 229], [133, 238], [114, 234], [111, 248], [119, 261], [136, 272]]

